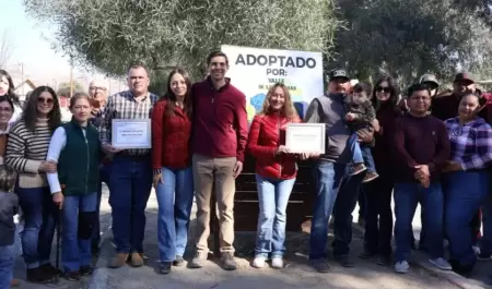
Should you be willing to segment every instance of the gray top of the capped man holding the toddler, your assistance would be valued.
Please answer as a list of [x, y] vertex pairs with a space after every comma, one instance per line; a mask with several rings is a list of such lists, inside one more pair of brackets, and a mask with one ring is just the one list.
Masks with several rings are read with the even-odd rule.
[[329, 94], [311, 101], [305, 122], [326, 124], [326, 149], [321, 159], [340, 164], [352, 161], [349, 146], [351, 131], [344, 121], [345, 113], [342, 94]]

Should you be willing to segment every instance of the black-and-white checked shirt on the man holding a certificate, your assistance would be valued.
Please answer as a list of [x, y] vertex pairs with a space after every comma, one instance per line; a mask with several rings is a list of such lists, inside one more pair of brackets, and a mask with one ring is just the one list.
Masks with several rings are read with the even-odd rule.
[[[137, 103], [130, 91], [125, 91], [109, 96], [103, 112], [103, 123], [99, 129], [101, 143], [112, 143], [113, 119], [150, 119], [152, 107], [157, 101], [157, 96], [149, 93], [141, 103]], [[150, 149], [125, 149], [126, 155], [144, 156]]]

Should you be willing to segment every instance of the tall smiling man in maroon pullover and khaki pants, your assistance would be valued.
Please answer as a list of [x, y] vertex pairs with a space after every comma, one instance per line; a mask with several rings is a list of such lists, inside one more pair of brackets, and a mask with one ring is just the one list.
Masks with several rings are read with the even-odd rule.
[[229, 60], [221, 51], [207, 59], [209, 76], [191, 87], [194, 99], [192, 169], [197, 198], [197, 253], [192, 268], [207, 260], [210, 236], [210, 200], [215, 184], [219, 207], [222, 266], [236, 269], [234, 260], [235, 178], [243, 170], [248, 135], [246, 96], [225, 77]]

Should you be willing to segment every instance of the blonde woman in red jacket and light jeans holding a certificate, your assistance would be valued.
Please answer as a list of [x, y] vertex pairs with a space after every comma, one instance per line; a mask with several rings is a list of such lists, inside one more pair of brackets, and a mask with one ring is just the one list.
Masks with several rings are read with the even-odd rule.
[[283, 267], [285, 210], [297, 172], [296, 156], [285, 147], [289, 122], [301, 122], [285, 85], [273, 85], [261, 112], [249, 129], [248, 149], [256, 157], [258, 232], [253, 266], [261, 268], [271, 254], [271, 265]]

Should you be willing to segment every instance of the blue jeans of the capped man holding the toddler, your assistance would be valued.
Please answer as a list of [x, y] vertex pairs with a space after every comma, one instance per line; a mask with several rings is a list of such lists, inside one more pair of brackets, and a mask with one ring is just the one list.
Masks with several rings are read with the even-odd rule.
[[316, 198], [314, 202], [313, 220], [311, 224], [309, 258], [326, 257], [328, 240], [328, 220], [337, 200], [345, 165], [326, 160], [317, 160], [314, 168]]

